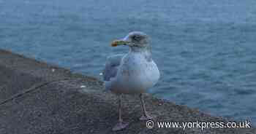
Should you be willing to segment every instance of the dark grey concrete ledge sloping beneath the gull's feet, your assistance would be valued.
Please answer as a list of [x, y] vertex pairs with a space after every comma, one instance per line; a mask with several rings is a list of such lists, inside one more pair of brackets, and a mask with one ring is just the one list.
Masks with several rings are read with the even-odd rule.
[[[227, 122], [151, 95], [145, 99], [159, 122]], [[124, 100], [124, 119], [130, 125], [115, 133], [256, 133], [255, 128], [148, 129], [138, 120], [138, 96], [125, 95]], [[99, 80], [0, 50], [1, 134], [114, 133], [117, 115], [116, 95], [103, 91]]]

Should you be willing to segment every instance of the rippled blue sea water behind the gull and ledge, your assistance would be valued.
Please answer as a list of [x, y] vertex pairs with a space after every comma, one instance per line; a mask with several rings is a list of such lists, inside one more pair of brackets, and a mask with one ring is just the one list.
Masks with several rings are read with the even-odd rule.
[[256, 123], [255, 0], [0, 0], [1, 49], [98, 78], [130, 31], [151, 36], [155, 96]]

